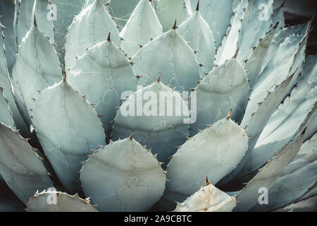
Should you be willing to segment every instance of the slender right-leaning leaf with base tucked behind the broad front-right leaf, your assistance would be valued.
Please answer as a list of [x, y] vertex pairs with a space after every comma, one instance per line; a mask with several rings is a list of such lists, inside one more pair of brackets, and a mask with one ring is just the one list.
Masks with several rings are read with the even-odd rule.
[[287, 80], [283, 81], [280, 85], [276, 85], [275, 90], [273, 90], [272, 93], [268, 93], [268, 95], [261, 102], [259, 102], [259, 106], [255, 112], [244, 115], [241, 126], [242, 128], [247, 129], [247, 136], [249, 137], [249, 150], [247, 150], [246, 155], [242, 158], [237, 168], [228, 174], [227, 177], [222, 179], [218, 186], [230, 182], [232, 178], [240, 172], [246, 162], [249, 162], [249, 157], [253, 152], [254, 146], [256, 145], [256, 142], [258, 141], [264, 126], [266, 126], [268, 120], [271, 118], [273, 112], [278, 107], [280, 102], [282, 102], [282, 98], [291, 81], [292, 76], [287, 78]]

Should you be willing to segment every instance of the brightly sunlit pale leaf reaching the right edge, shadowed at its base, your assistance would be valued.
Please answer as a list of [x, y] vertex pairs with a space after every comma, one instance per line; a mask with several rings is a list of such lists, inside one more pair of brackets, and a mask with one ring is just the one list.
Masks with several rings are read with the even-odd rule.
[[[285, 143], [289, 143], [292, 138], [297, 136], [304, 129], [304, 126], [316, 128], [313, 121], [307, 122], [313, 116], [311, 114], [316, 108], [316, 60], [316, 56], [306, 59], [303, 76], [299, 78], [297, 87], [292, 90], [290, 97], [284, 100], [268, 121], [247, 164], [240, 172], [240, 177], [261, 167], [273, 157], [275, 151], [281, 150]], [[311, 129], [310, 132], [315, 133], [316, 129], [315, 131]]]

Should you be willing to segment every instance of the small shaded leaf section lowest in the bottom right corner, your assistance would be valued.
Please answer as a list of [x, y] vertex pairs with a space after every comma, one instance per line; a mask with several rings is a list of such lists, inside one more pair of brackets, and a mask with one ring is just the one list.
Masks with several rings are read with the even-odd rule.
[[293, 203], [285, 208], [278, 209], [276, 212], [316, 212], [317, 196], [307, 198], [306, 200]]

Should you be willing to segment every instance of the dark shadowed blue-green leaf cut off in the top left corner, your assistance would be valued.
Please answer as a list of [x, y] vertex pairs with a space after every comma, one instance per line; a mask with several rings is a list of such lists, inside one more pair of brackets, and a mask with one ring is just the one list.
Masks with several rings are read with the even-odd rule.
[[[15, 35], [13, 30], [14, 13], [15, 13], [14, 1], [11, 1], [11, 0], [0, 1], [0, 23], [4, 25], [4, 27], [6, 28], [4, 30], [3, 37], [6, 37], [4, 44], [6, 45], [6, 61], [8, 64], [8, 71], [10, 71], [10, 73], [12, 71], [13, 65], [15, 64], [15, 54], [16, 54], [16, 43], [15, 43], [15, 38], [14, 38]], [[0, 27], [2, 26], [0, 25]], [[1, 44], [0, 48], [2, 48], [3, 43], [1, 43], [1, 37], [0, 37], [0, 44]], [[3, 59], [0, 57], [0, 60], [2, 61]]]

